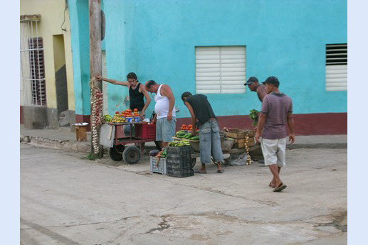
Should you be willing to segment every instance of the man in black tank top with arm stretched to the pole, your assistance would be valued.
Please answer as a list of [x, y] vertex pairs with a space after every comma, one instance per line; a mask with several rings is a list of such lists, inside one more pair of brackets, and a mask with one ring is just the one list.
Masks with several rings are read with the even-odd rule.
[[[100, 74], [96, 74], [95, 78], [100, 81], [110, 82], [113, 85], [122, 85], [126, 86], [129, 89], [129, 97], [130, 97], [130, 109], [134, 110], [135, 108], [138, 109], [140, 113], [140, 119], [144, 119], [144, 112], [146, 111], [149, 103], [151, 103], [151, 98], [147, 90], [144, 88], [144, 85], [140, 83], [137, 79], [137, 75], [134, 72], [130, 72], [127, 75], [127, 81], [117, 81], [112, 79], [107, 79], [102, 77]], [[143, 97], [146, 98], [146, 102], [144, 103]], [[123, 126], [123, 131], [125, 136], [130, 136], [130, 125]], [[144, 150], [144, 143], [141, 143], [141, 152], [143, 153]]]

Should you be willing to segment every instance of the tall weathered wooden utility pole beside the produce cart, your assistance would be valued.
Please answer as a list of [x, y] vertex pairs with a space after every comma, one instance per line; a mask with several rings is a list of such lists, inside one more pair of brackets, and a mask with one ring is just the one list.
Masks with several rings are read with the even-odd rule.
[[[101, 1], [100, 0], [88, 0], [90, 9], [90, 78], [96, 73], [102, 74], [102, 54], [101, 54]], [[102, 91], [101, 82], [98, 82], [98, 88]], [[93, 108], [91, 107], [91, 124], [92, 122]], [[100, 115], [102, 117], [102, 115]], [[100, 143], [100, 126], [97, 126], [98, 131], [98, 144]], [[91, 127], [91, 132], [93, 129]], [[103, 149], [100, 147], [100, 151], [96, 153], [93, 147], [93, 137], [91, 137], [91, 155], [93, 158], [102, 157]]]

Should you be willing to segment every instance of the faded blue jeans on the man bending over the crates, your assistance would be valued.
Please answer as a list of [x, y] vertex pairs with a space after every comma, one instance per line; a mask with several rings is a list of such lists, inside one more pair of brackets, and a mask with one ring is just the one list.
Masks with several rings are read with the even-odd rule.
[[199, 149], [201, 163], [211, 163], [211, 155], [216, 163], [224, 160], [221, 150], [220, 128], [216, 119], [209, 119], [199, 126]]

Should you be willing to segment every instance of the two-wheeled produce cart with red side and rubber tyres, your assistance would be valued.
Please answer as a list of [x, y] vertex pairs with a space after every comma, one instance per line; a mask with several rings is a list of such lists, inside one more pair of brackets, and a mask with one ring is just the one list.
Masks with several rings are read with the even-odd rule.
[[[127, 144], [137, 144], [154, 141], [159, 151], [161, 148], [156, 141], [156, 125], [147, 124], [146, 122], [125, 122], [111, 123], [105, 122], [114, 127], [112, 130], [112, 147], [109, 150], [109, 155], [112, 160], [124, 160], [125, 163], [134, 164], [141, 158], [140, 148], [137, 146], [125, 146]], [[123, 127], [130, 125], [130, 135], [125, 136]]]

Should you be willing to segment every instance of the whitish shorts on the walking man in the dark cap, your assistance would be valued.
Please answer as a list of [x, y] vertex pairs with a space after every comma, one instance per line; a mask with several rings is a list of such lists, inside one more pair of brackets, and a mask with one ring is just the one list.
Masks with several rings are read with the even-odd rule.
[[278, 167], [284, 167], [286, 138], [267, 139], [261, 138], [261, 148], [263, 157], [265, 158], [265, 165], [277, 164]]

